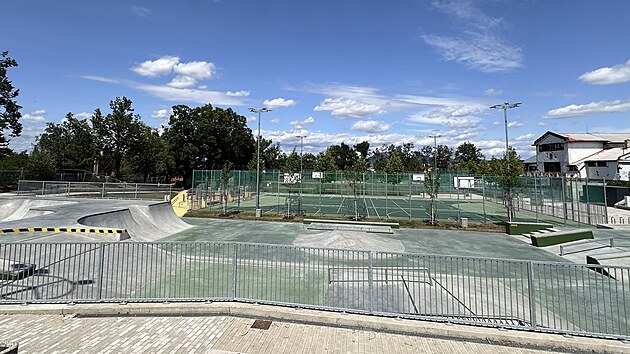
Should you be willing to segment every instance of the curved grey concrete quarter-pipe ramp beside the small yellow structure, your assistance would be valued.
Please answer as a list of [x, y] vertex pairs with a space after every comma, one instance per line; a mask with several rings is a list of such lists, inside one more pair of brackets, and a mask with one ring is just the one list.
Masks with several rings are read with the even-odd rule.
[[126, 229], [134, 241], [155, 241], [193, 227], [175, 215], [169, 202], [131, 205], [128, 209], [80, 218], [87, 226]]

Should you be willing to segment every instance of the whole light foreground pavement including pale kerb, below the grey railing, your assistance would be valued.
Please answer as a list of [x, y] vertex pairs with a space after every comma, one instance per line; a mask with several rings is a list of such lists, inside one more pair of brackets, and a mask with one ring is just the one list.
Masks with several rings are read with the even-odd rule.
[[[250, 328], [272, 320], [269, 330]], [[20, 353], [628, 353], [619, 340], [239, 303], [0, 308]]]

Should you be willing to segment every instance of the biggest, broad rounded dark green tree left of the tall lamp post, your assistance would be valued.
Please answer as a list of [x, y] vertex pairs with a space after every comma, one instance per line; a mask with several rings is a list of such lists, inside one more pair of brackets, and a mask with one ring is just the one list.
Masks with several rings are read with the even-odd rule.
[[164, 136], [186, 185], [191, 184], [194, 169], [225, 162], [244, 166], [256, 157], [256, 141], [247, 119], [230, 108], [174, 106]]

